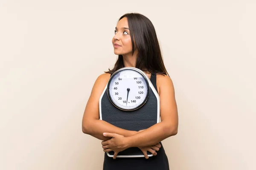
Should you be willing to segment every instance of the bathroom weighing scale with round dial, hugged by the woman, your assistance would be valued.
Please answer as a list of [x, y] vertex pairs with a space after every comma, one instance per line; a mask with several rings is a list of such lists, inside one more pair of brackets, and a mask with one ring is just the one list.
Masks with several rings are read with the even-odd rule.
[[[138, 68], [114, 72], [99, 99], [99, 116], [116, 127], [139, 131], [159, 122], [160, 98], [148, 76]], [[113, 157], [114, 152], [108, 152]], [[148, 156], [153, 156], [148, 152]], [[116, 157], [145, 157], [138, 147], [119, 152]]]

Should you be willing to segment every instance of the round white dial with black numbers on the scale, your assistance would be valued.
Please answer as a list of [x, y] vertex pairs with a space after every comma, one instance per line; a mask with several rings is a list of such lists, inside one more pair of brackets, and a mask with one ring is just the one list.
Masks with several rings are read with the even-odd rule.
[[124, 69], [113, 76], [109, 85], [112, 102], [125, 110], [136, 109], [148, 96], [148, 82], [137, 71]]

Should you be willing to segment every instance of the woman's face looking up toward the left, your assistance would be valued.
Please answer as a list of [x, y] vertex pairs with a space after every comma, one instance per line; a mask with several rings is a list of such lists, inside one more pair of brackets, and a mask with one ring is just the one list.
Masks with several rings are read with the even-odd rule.
[[122, 18], [117, 23], [112, 44], [114, 47], [114, 54], [123, 56], [131, 55], [132, 45], [127, 17]]

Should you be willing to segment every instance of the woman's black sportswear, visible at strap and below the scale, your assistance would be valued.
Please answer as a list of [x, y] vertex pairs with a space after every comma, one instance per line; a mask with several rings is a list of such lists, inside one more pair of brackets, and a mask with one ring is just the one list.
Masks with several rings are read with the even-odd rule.
[[[156, 74], [151, 74], [150, 81], [157, 91]], [[161, 142], [160, 144], [162, 145]], [[157, 151], [157, 155], [148, 159], [145, 157], [113, 159], [105, 153], [103, 170], [169, 170], [169, 162], [162, 145]]]

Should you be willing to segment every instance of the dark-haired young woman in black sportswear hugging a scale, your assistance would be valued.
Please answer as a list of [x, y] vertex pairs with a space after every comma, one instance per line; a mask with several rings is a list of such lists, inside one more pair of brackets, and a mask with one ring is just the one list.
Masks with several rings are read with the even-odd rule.
[[[96, 79], [84, 111], [82, 130], [102, 140], [103, 170], [169, 170], [161, 141], [177, 134], [178, 114], [174, 86], [164, 66], [154, 26], [144, 15], [129, 13], [120, 17], [114, 33], [112, 43], [118, 59], [112, 70]], [[160, 96], [160, 123], [137, 132], [99, 120], [99, 98], [111, 74], [123, 67], [139, 68], [151, 80]], [[116, 158], [129, 147], [139, 147], [145, 157]], [[107, 156], [109, 151], [114, 151], [113, 158]], [[147, 151], [154, 156], [148, 157]]]

